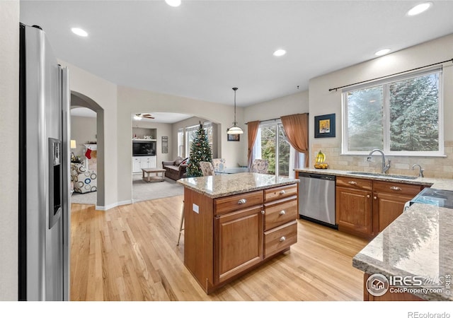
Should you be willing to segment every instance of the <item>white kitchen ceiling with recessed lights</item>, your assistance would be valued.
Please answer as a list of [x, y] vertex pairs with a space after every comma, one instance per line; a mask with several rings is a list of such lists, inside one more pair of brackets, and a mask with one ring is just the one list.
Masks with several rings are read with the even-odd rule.
[[[121, 86], [237, 106], [309, 78], [453, 33], [453, 1], [21, 1], [59, 59]], [[78, 37], [71, 28], [84, 28]], [[284, 57], [273, 57], [277, 48]]]

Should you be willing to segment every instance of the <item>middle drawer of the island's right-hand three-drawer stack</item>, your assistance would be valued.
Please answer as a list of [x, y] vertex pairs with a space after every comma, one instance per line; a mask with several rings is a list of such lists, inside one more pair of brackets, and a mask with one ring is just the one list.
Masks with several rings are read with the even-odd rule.
[[270, 230], [292, 220], [297, 220], [297, 196], [264, 204], [264, 230]]

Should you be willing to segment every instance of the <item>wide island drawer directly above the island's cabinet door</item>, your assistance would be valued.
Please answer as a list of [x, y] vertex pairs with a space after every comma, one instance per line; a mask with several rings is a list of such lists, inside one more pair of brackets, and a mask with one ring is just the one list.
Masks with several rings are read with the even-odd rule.
[[219, 216], [231, 211], [237, 211], [249, 206], [263, 204], [263, 191], [247, 192], [235, 194], [234, 196], [224, 196], [223, 198], [214, 199], [215, 215]]

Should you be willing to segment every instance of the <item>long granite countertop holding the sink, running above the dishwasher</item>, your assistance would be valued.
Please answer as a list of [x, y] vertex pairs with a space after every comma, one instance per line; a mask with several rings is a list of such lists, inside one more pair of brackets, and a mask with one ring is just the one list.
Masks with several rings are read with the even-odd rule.
[[[378, 181], [420, 184], [423, 186], [432, 187], [433, 189], [453, 190], [453, 179], [438, 179], [438, 178], [426, 178], [426, 177], [423, 177], [423, 178], [417, 177], [416, 179], [409, 179], [409, 177], [412, 177], [412, 176], [408, 176], [408, 179], [402, 179], [401, 177], [392, 177], [392, 175], [386, 175], [386, 174], [356, 175], [356, 174], [350, 173], [353, 170], [343, 171], [343, 170], [314, 169], [314, 168], [296, 169], [294, 171], [318, 173], [321, 175], [335, 175], [335, 176], [341, 176], [341, 177], [371, 179], [371, 180], [378, 180]], [[367, 173], [367, 172], [364, 172], [364, 173]]]

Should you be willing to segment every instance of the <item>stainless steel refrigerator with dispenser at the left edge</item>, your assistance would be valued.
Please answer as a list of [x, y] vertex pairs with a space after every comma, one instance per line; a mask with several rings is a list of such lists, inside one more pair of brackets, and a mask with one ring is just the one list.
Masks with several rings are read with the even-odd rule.
[[18, 300], [69, 300], [69, 83], [40, 27], [20, 25]]

